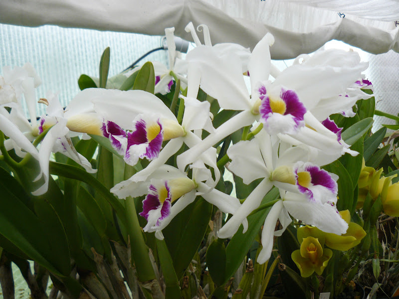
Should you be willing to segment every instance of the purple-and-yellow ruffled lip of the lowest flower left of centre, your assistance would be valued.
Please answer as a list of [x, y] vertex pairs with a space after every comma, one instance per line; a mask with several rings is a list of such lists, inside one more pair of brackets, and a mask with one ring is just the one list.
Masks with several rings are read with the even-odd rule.
[[139, 215], [148, 221], [150, 212], [158, 210], [160, 217], [158, 217], [156, 225], [160, 225], [161, 221], [170, 215], [171, 207], [171, 190], [168, 181], [154, 182], [148, 187], [148, 194], [143, 200], [143, 211]]

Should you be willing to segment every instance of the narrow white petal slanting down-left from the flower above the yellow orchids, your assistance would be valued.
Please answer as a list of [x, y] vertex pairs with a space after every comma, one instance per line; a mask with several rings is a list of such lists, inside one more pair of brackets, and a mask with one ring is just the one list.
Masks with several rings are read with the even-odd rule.
[[256, 188], [253, 189], [251, 194], [248, 195], [244, 203], [238, 208], [234, 215], [219, 230], [217, 236], [222, 239], [230, 238], [231, 236], [233, 236], [237, 232], [240, 224], [244, 221], [244, 219], [254, 209], [259, 207], [263, 197], [271, 189], [272, 186], [273, 184], [269, 181], [269, 179], [265, 178], [264, 180], [262, 180], [259, 185], [257, 185]]

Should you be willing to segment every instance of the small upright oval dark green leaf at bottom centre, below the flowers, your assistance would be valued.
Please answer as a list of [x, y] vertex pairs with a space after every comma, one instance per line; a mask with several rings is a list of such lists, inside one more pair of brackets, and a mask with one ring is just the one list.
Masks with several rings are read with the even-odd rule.
[[226, 271], [226, 248], [223, 239], [215, 239], [206, 250], [206, 265], [209, 275], [216, 286], [224, 282]]

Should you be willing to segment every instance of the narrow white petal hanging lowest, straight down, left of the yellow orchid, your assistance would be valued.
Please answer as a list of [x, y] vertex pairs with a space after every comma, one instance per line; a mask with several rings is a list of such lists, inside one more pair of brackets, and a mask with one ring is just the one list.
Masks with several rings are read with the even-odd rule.
[[267, 214], [261, 236], [263, 248], [259, 252], [258, 258], [256, 259], [259, 264], [264, 264], [270, 259], [271, 251], [273, 250], [274, 228], [282, 209], [283, 203], [282, 200], [279, 200], [272, 206], [269, 214]]

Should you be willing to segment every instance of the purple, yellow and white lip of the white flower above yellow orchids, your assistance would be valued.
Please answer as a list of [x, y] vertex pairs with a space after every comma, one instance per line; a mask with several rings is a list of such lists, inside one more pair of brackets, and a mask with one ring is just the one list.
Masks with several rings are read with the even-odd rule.
[[324, 169], [312, 163], [297, 162], [294, 165], [295, 181], [299, 192], [311, 202], [335, 202], [338, 185]]

